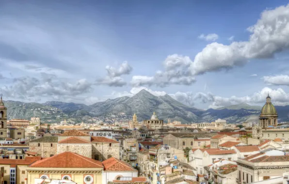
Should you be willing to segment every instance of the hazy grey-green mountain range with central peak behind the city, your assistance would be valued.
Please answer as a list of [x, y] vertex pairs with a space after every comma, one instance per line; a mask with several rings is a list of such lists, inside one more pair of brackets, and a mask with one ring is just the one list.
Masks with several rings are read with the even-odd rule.
[[[218, 109], [202, 110], [186, 106], [170, 95], [155, 96], [142, 90], [132, 97], [123, 96], [115, 99], [108, 99], [104, 102], [97, 102], [87, 106], [84, 104], [65, 103], [59, 101], [48, 101], [46, 103], [23, 103], [17, 101], [6, 101], [8, 118], [30, 119], [41, 117], [43, 121], [59, 122], [71, 119], [74, 122], [91, 122], [95, 117], [111, 113], [125, 113], [128, 115], [137, 114], [138, 121], [150, 119], [153, 112], [156, 112], [159, 119], [167, 121], [191, 122], [212, 122], [219, 118], [229, 123], [241, 123], [244, 121], [257, 122], [262, 107], [250, 106], [248, 104], [232, 105]], [[279, 115], [278, 121], [289, 120], [289, 106], [275, 106]]]

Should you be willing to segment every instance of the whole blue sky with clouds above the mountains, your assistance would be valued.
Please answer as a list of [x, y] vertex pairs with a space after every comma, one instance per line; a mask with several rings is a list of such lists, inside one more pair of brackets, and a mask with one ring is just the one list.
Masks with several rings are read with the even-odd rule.
[[93, 104], [146, 89], [199, 108], [261, 105], [270, 92], [289, 105], [287, 4], [1, 1], [0, 90]]

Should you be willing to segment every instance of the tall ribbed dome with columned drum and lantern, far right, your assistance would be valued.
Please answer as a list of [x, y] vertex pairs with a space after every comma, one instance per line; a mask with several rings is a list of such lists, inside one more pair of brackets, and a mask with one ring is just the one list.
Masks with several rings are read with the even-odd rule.
[[271, 97], [267, 96], [266, 98], [266, 104], [262, 107], [261, 114], [260, 114], [260, 126], [261, 128], [267, 128], [268, 126], [277, 126], [278, 122], [278, 114], [271, 103]]

